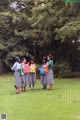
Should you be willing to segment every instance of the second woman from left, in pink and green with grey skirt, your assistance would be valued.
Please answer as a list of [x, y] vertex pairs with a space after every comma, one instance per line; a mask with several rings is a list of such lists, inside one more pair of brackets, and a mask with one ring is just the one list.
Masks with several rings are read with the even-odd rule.
[[28, 85], [28, 78], [29, 78], [29, 65], [26, 64], [26, 58], [22, 58], [21, 63], [21, 88], [22, 92], [26, 91], [26, 86]]

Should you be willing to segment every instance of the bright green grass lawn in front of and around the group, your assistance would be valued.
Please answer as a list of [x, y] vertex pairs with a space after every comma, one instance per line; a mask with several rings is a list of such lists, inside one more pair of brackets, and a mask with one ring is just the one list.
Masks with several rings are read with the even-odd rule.
[[7, 120], [80, 120], [80, 79], [55, 79], [54, 91], [34, 90], [15, 94], [14, 76], [0, 76], [0, 114]]

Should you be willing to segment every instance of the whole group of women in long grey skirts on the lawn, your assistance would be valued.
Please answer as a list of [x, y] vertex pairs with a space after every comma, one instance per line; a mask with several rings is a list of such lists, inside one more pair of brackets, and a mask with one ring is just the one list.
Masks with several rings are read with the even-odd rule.
[[16, 88], [16, 94], [25, 92], [27, 86], [29, 86], [30, 89], [34, 89], [34, 86], [36, 84], [36, 70], [39, 70], [43, 89], [46, 89], [47, 85], [49, 84], [49, 90], [53, 90], [53, 66], [54, 64], [52, 55], [43, 57], [42, 65], [39, 68], [37, 68], [34, 59], [27, 62], [26, 58], [23, 57], [20, 62], [20, 58], [17, 56], [15, 58], [15, 63], [12, 66], [16, 81], [14, 85], [14, 87]]

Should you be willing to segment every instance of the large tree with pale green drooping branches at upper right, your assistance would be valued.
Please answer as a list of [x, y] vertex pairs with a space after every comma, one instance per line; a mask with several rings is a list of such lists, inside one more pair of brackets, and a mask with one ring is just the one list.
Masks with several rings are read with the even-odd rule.
[[43, 31], [46, 49], [53, 51], [55, 61], [66, 60], [73, 70], [76, 68], [75, 61], [80, 66], [77, 59], [80, 56], [79, 7], [80, 3], [66, 4], [61, 0], [51, 0], [44, 6], [33, 8], [33, 27]]

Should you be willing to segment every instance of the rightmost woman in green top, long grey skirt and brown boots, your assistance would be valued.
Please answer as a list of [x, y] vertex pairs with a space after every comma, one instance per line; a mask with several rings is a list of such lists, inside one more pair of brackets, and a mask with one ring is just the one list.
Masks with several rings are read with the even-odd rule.
[[47, 57], [48, 59], [48, 67], [49, 67], [49, 72], [48, 72], [48, 81], [47, 84], [50, 85], [50, 90], [53, 90], [53, 84], [54, 84], [54, 77], [53, 77], [53, 56], [50, 54]]

